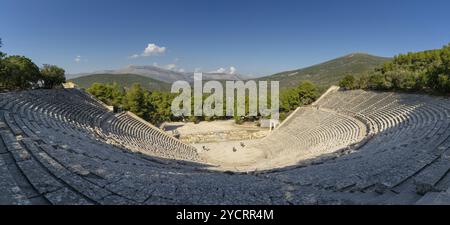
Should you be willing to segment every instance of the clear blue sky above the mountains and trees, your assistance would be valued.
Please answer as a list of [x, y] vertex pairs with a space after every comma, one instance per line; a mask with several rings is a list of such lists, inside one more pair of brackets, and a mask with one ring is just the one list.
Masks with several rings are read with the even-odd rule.
[[450, 42], [449, 9], [447, 0], [1, 0], [0, 37], [3, 52], [68, 73], [156, 64], [269, 75], [351, 52], [439, 48]]

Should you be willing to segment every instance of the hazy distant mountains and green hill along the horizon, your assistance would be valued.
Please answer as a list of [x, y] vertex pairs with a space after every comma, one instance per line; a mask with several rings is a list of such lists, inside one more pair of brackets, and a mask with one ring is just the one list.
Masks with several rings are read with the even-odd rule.
[[[203, 73], [203, 80], [225, 81], [254, 79], [256, 81], [280, 81], [280, 88], [295, 87], [301, 81], [309, 80], [320, 88], [327, 88], [331, 85], [337, 85], [346, 75], [358, 77], [370, 73], [375, 68], [382, 66], [390, 60], [392, 58], [354, 52], [312, 66], [283, 71], [259, 78], [249, 78], [245, 75], [229, 73]], [[123, 86], [127, 87], [131, 86], [131, 78], [132, 81], [144, 82], [142, 85], [149, 89], [170, 90], [170, 84], [174, 81], [183, 80], [192, 83], [193, 76], [194, 72], [178, 72], [151, 65], [130, 65], [118, 70], [102, 70], [79, 74], [79, 76], [72, 77], [69, 80], [74, 81], [74, 83], [81, 83], [79, 86], [83, 88], [86, 88], [88, 84], [111, 80], [124, 82], [125, 84]], [[158, 84], [161, 87], [153, 84]]]

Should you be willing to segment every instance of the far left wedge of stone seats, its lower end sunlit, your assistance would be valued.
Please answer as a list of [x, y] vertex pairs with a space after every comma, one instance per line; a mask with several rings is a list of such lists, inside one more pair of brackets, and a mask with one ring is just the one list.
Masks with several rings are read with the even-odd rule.
[[[195, 148], [167, 136], [156, 127], [127, 114], [127, 129], [108, 127], [108, 118], [116, 118], [104, 104], [79, 90], [36, 90], [4, 94], [1, 106], [22, 117], [33, 117], [46, 127], [72, 136], [127, 140], [124, 147], [162, 158], [198, 160]], [[132, 122], [132, 123], [131, 123]], [[69, 126], [65, 126], [69, 124]], [[119, 124], [120, 125], [120, 124]], [[111, 133], [115, 131], [117, 133]], [[139, 135], [136, 132], [140, 132]], [[105, 136], [106, 135], [106, 136]], [[131, 150], [136, 150], [133, 148]]]

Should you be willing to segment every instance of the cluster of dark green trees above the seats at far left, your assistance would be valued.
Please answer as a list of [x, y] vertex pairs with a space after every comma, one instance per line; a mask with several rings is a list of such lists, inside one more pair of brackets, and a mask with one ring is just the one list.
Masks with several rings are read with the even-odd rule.
[[65, 71], [58, 66], [45, 64], [39, 68], [25, 56], [7, 56], [0, 51], [0, 90], [53, 88], [65, 80]]

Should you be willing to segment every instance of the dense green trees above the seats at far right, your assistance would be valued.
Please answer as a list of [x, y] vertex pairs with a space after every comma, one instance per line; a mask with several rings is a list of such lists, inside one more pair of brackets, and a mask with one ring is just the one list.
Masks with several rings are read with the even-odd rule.
[[345, 89], [369, 89], [448, 94], [450, 44], [441, 49], [400, 54], [367, 76], [348, 75], [339, 84]]

